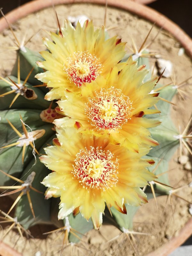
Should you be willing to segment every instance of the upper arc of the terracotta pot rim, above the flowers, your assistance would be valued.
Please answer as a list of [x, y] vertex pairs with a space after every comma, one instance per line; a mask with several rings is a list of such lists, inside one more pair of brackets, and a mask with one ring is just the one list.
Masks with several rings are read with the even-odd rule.
[[[21, 19], [32, 12], [37, 12], [46, 7], [52, 6], [52, 3], [57, 4], [74, 4], [74, 3], [92, 3], [105, 5], [106, 0], [33, 0], [27, 4], [23, 4], [20, 7], [6, 14], [6, 18], [10, 23]], [[165, 17], [163, 14], [153, 10], [152, 8], [136, 3], [131, 0], [108, 0], [108, 5], [119, 9], [132, 12], [146, 20], [155, 22], [157, 26], [163, 27], [165, 30], [170, 32], [185, 48], [186, 53], [192, 58], [192, 39], [186, 34], [177, 24]], [[0, 32], [8, 27], [5, 19], [0, 19]]]

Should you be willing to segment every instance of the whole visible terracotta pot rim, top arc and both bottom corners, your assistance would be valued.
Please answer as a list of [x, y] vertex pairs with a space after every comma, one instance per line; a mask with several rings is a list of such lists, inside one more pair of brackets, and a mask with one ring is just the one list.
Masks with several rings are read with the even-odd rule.
[[[73, 3], [94, 3], [104, 5], [106, 0], [34, 0], [27, 4], [22, 5], [21, 7], [9, 12], [6, 15], [7, 20], [10, 23], [15, 22], [16, 20], [21, 19], [22, 17], [27, 16], [32, 12], [39, 11], [43, 8], [52, 6], [52, 2], [57, 4], [73, 4]], [[140, 3], [149, 3], [152, 1], [138, 0], [108, 0], [108, 5], [116, 8], [121, 8], [132, 12], [136, 15], [141, 16], [144, 19], [147, 19], [152, 22], [156, 22], [156, 25], [163, 27], [165, 30], [170, 32], [175, 38], [180, 42], [180, 44], [185, 48], [185, 51], [190, 57], [192, 57], [192, 39], [174, 22], [166, 18], [164, 15], [159, 12], [144, 6]], [[0, 19], [0, 32], [7, 28], [8, 25], [4, 18]], [[186, 225], [180, 230], [178, 236], [172, 238], [169, 243], [164, 244], [162, 247], [157, 249], [155, 252], [149, 253], [147, 256], [166, 256], [172, 251], [174, 251], [178, 246], [184, 243], [188, 237], [192, 234], [192, 218], [186, 223]], [[8, 245], [0, 241], [0, 255], [2, 256], [22, 256], [20, 253], [16, 252]]]

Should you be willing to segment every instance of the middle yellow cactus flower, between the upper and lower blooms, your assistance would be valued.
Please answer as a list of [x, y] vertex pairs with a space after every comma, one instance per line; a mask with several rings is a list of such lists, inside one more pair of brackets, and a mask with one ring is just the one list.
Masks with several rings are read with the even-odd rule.
[[[57, 127], [76, 126], [78, 132], [96, 136], [107, 133], [114, 144], [121, 144], [138, 152], [139, 145], [156, 146], [147, 128], [160, 124], [157, 120], [142, 117], [158, 113], [148, 109], [157, 101], [150, 92], [156, 78], [143, 83], [147, 70], [137, 67], [130, 58], [121, 72], [114, 67], [107, 79], [99, 76], [92, 86], [82, 85], [81, 95], [65, 92], [66, 100], [58, 101], [64, 117], [55, 120]], [[78, 125], [77, 125], [78, 124]]]

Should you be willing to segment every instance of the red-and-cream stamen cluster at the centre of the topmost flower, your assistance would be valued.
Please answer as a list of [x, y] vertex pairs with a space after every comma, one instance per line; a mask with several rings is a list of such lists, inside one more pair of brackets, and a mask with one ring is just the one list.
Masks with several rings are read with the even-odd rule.
[[99, 59], [91, 53], [74, 52], [67, 58], [67, 66], [63, 70], [68, 79], [76, 86], [81, 87], [83, 83], [91, 83], [102, 71]]

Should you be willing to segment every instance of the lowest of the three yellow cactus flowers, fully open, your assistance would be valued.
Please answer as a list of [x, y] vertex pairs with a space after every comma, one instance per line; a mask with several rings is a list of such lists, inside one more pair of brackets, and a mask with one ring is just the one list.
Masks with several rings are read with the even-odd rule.
[[105, 203], [126, 214], [124, 204], [147, 202], [140, 187], [156, 176], [146, 169], [153, 161], [140, 158], [149, 148], [138, 154], [111, 144], [106, 134], [95, 137], [71, 127], [57, 132], [58, 142], [45, 148], [40, 160], [54, 171], [42, 183], [48, 187], [45, 198], [60, 196], [59, 219], [81, 212], [100, 228]]

